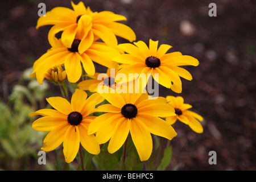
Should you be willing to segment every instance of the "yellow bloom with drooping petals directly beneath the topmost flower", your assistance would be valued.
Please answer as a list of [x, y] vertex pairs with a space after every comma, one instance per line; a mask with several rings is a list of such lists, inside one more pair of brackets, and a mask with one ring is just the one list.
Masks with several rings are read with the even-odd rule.
[[43, 83], [47, 70], [56, 64], [64, 64], [68, 81], [77, 82], [82, 75], [81, 63], [85, 72], [93, 76], [95, 68], [92, 61], [108, 68], [115, 68], [117, 63], [109, 60], [120, 54], [117, 49], [106, 46], [102, 42], [83, 45], [79, 35], [73, 40], [71, 47], [66, 47], [61, 39], [55, 39], [51, 46], [52, 48], [36, 60], [33, 65], [34, 72], [30, 76], [36, 76], [39, 84]]

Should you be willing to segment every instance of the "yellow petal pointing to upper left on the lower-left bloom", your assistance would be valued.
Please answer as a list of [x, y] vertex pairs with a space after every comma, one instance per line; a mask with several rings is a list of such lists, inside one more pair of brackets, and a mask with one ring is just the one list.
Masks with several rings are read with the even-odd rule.
[[72, 112], [70, 103], [63, 97], [49, 97], [46, 100], [53, 108], [65, 115]]

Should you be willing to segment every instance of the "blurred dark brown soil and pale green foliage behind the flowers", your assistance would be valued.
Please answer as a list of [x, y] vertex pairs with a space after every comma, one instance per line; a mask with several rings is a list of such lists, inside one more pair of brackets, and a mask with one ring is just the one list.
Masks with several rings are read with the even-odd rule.
[[[54, 89], [59, 88], [38, 86], [27, 78], [29, 71], [23, 74], [50, 48], [51, 26], [35, 28], [40, 2], [47, 11], [57, 6], [72, 9], [70, 1], [60, 0], [0, 2], [0, 169], [44, 169], [37, 163], [44, 134], [31, 130], [27, 114], [44, 107], [45, 97], [56, 96]], [[92, 11], [125, 15], [124, 23], [135, 31], [137, 41], [159, 40], [173, 47], [170, 52], [180, 51], [200, 61], [198, 67], [185, 67], [193, 80], [181, 78], [181, 94], [160, 86], [160, 96], [182, 96], [192, 111], [204, 117], [203, 134], [180, 122], [174, 125], [178, 135], [171, 141], [168, 169], [256, 169], [256, 1], [214, 1], [216, 17], [208, 15], [212, 1], [83, 2]], [[216, 151], [216, 165], [208, 163], [209, 151]]]

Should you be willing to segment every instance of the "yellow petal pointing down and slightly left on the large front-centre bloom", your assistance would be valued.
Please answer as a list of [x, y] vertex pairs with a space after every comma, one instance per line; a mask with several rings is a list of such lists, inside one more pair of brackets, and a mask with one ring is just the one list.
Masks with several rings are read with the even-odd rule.
[[110, 154], [113, 154], [115, 151], [122, 147], [129, 134], [129, 129], [130, 119], [122, 118], [118, 121], [117, 126], [115, 126], [113, 135], [109, 141], [108, 151]]

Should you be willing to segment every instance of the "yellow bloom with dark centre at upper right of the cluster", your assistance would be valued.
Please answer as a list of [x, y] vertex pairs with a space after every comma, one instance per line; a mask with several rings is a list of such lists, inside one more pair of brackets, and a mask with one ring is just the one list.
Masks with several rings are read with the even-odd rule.
[[135, 46], [130, 43], [117, 46], [126, 53], [114, 57], [113, 60], [128, 64], [118, 73], [125, 73], [126, 75], [129, 73], [144, 73], [146, 75], [150, 73], [153, 78], [157, 73], [159, 80], [155, 79], [155, 81], [177, 93], [181, 93], [182, 90], [180, 77], [192, 80], [191, 74], [179, 66], [199, 65], [199, 61], [192, 56], [182, 55], [180, 52], [166, 53], [171, 46], [162, 44], [158, 48], [158, 41], [150, 39], [149, 47], [142, 41], [134, 42], [134, 44]]

